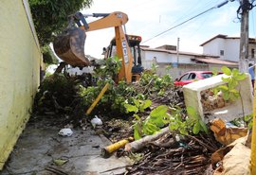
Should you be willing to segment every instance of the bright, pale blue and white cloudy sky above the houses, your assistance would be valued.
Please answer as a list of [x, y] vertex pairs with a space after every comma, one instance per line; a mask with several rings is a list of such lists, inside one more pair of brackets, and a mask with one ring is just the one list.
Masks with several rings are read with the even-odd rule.
[[[141, 36], [142, 45], [152, 48], [164, 44], [177, 45], [177, 38], [179, 38], [180, 51], [203, 53], [203, 48], [199, 45], [218, 34], [240, 37], [240, 22], [236, 13], [240, 5], [238, 0], [229, 2], [219, 9], [212, 9], [158, 37], [155, 36], [224, 1], [93, 0], [92, 6], [89, 9], [82, 9], [82, 13], [121, 11], [129, 18], [125, 25], [127, 34]], [[86, 21], [90, 23], [97, 19], [99, 18], [88, 17]], [[106, 47], [114, 35], [114, 27], [87, 32], [85, 54], [101, 59], [102, 47]], [[249, 12], [249, 37], [256, 37], [256, 8]]]

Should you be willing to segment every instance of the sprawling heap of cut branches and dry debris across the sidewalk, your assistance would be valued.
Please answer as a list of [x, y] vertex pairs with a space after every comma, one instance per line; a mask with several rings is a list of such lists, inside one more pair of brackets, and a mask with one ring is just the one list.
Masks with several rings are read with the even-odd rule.
[[[148, 118], [149, 114], [160, 105], [166, 105], [169, 109], [180, 109], [178, 111], [180, 120], [188, 118], [181, 87], [174, 86], [170, 77], [158, 78], [150, 71], [146, 71], [145, 75], [129, 85], [125, 83], [112, 85], [112, 89], [106, 92], [105, 98], [102, 98], [93, 113], [86, 115], [85, 110], [89, 108], [88, 105], [109, 79], [105, 81], [100, 79], [98, 86], [93, 87], [91, 75], [70, 77], [65, 74], [54, 74], [42, 83], [35, 99], [34, 112], [59, 114], [58, 117], [64, 117], [63, 125], [82, 127], [83, 130], [91, 127], [90, 121], [97, 114], [103, 125], [94, 126], [96, 133], [105, 135], [112, 143], [119, 141], [124, 143], [123, 147], [119, 147], [117, 156], [128, 156], [135, 162], [133, 166], [127, 167], [126, 174], [210, 175], [216, 168], [221, 171], [221, 162], [230, 149], [225, 149], [227, 151], [218, 149], [229, 146], [237, 138], [246, 136], [247, 129], [229, 130], [225, 122], [214, 120], [208, 125], [211, 130], [209, 133], [204, 133], [196, 126], [192, 130], [197, 131], [198, 134], [193, 134], [192, 131], [181, 134], [170, 130], [172, 126], [166, 124], [166, 128], [162, 129], [164, 132], [160, 131], [153, 136], [128, 143], [131, 141], [128, 137], [135, 134], [133, 126], [136, 120], [133, 113], [124, 113], [121, 106], [124, 102], [133, 103], [135, 99], [138, 101], [147, 99], [152, 102], [148, 108], [139, 112], [141, 121]], [[83, 96], [80, 94], [81, 88]], [[113, 104], [118, 107], [113, 108]], [[235, 139], [230, 139], [228, 136]], [[144, 142], [148, 137], [151, 139]], [[116, 149], [110, 153], [115, 151]]]

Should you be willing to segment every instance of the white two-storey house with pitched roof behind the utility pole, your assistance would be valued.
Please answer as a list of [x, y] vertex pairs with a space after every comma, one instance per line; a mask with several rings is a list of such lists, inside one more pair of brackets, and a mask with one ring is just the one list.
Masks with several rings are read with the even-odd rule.
[[[256, 39], [249, 38], [248, 42], [248, 62], [256, 63]], [[223, 61], [239, 61], [240, 37], [219, 34], [200, 46], [204, 54], [218, 56]]]

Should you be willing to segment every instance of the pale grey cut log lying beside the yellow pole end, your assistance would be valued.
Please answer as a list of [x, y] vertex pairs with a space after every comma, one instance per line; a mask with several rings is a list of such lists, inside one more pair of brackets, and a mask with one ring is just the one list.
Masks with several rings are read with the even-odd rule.
[[159, 137], [163, 136], [164, 134], [170, 131], [169, 127], [162, 129], [161, 131], [155, 133], [154, 135], [147, 135], [137, 141], [132, 143], [128, 143], [125, 145], [125, 151], [132, 151], [135, 152], [143, 147], [147, 146], [150, 142], [158, 139]]

